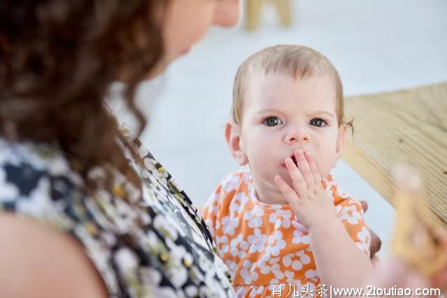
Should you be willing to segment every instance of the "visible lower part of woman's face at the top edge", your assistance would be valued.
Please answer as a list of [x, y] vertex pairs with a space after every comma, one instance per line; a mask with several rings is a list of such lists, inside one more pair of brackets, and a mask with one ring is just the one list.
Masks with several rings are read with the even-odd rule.
[[163, 17], [166, 64], [189, 52], [213, 24], [236, 24], [239, 13], [240, 0], [171, 0]]

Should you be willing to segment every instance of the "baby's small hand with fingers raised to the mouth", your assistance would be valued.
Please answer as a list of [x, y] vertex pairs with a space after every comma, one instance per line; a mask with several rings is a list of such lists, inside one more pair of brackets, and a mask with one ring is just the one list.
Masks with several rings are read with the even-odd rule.
[[274, 177], [274, 182], [291, 205], [296, 218], [309, 229], [337, 220], [334, 204], [321, 185], [320, 172], [309, 151], [303, 154], [301, 149], [297, 149], [293, 154], [298, 167], [292, 158], [286, 159], [293, 188], [279, 175]]

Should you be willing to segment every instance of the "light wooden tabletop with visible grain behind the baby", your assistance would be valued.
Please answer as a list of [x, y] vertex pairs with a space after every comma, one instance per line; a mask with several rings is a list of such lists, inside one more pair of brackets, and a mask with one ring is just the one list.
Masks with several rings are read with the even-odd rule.
[[391, 204], [391, 169], [414, 167], [429, 207], [447, 222], [447, 82], [345, 99], [353, 121], [343, 158]]

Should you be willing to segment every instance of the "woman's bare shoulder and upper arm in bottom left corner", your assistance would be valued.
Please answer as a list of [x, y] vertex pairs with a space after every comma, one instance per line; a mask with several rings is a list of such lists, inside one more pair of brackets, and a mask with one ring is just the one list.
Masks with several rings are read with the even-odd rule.
[[69, 235], [0, 212], [0, 239], [8, 239], [0, 263], [9, 268], [0, 270], [0, 297], [107, 297], [82, 246]]

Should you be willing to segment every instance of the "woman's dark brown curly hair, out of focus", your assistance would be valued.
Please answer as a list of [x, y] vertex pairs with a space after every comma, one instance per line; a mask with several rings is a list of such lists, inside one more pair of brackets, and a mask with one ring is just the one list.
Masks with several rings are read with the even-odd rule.
[[[163, 55], [161, 0], [0, 1], [0, 135], [57, 144], [88, 188], [88, 172], [112, 165], [131, 174], [104, 105], [126, 73], [125, 100]], [[130, 147], [129, 144], [126, 146]], [[131, 181], [138, 183], [135, 174]]]

